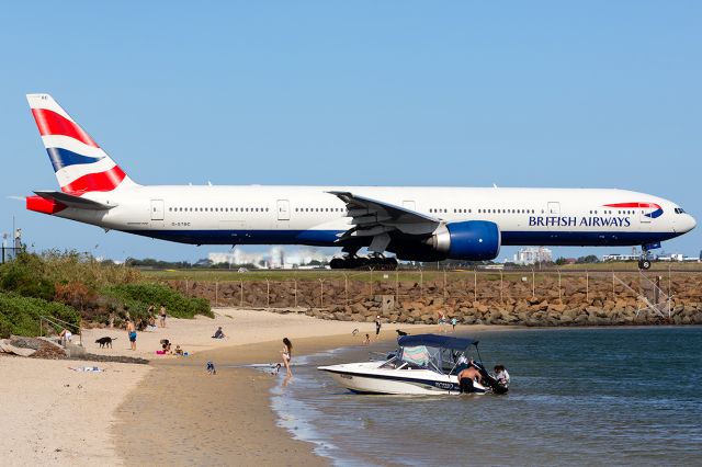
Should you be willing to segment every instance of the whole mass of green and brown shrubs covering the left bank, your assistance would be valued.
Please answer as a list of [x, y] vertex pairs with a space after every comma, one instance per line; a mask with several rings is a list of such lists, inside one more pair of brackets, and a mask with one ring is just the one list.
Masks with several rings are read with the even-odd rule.
[[127, 316], [146, 318], [151, 304], [165, 304], [168, 314], [178, 318], [214, 316], [205, 299], [186, 298], [166, 285], [143, 282], [134, 267], [73, 251], [21, 253], [0, 264], [0, 294], [3, 334], [35, 335], [39, 316], [76, 324], [82, 319], [120, 326]]

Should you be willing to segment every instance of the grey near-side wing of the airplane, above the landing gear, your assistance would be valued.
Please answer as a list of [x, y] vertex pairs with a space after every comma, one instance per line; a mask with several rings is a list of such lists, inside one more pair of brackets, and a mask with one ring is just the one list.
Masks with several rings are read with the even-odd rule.
[[353, 225], [339, 237], [339, 242], [351, 237], [374, 237], [373, 243], [375, 244], [372, 243], [372, 246], [375, 248], [371, 248], [371, 250], [382, 252], [389, 243], [389, 234], [393, 231], [406, 235], [429, 235], [441, 224], [435, 217], [378, 200], [350, 192], [328, 193], [346, 203]]

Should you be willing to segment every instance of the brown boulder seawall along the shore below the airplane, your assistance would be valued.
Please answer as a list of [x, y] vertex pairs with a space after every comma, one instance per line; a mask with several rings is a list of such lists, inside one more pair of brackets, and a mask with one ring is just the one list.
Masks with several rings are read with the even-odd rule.
[[[213, 306], [302, 312], [321, 319], [463, 324], [702, 324], [702, 275], [452, 274], [443, 281], [191, 282], [169, 284]], [[456, 278], [458, 277], [458, 278]]]

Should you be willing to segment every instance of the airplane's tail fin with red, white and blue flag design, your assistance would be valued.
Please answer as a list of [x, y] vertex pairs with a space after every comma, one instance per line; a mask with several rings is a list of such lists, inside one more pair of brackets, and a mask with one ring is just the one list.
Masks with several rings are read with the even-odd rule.
[[136, 185], [48, 94], [27, 94], [32, 115], [64, 193], [81, 196]]

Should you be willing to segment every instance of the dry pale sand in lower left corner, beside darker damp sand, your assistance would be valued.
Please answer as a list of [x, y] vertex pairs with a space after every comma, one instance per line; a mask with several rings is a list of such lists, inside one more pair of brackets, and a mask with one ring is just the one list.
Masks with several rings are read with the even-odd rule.
[[[99, 366], [103, 373], [69, 367]], [[149, 365], [0, 356], [2, 465], [122, 465], [111, 426]]]

